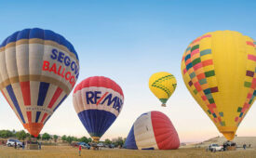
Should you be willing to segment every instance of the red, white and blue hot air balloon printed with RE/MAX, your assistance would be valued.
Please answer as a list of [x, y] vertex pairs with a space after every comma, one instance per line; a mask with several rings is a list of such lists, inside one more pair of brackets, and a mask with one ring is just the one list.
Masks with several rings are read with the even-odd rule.
[[122, 111], [124, 94], [115, 81], [94, 76], [75, 86], [73, 103], [88, 134], [98, 142]]

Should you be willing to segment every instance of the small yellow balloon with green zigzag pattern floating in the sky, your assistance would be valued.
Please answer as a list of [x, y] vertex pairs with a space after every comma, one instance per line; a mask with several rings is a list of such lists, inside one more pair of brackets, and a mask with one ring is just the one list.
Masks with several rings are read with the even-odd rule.
[[169, 72], [156, 72], [149, 79], [149, 88], [155, 97], [166, 106], [168, 98], [172, 95], [177, 86], [174, 75]]

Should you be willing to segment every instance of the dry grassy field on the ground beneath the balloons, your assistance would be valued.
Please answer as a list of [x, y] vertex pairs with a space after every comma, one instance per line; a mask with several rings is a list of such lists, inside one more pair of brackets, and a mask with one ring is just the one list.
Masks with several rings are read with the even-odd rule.
[[[11, 147], [0, 147], [0, 157], [2, 158], [75, 158], [78, 156], [78, 149], [69, 146], [45, 146], [42, 147], [41, 151], [29, 151], [29, 150], [15, 150]], [[81, 157], [97, 157], [97, 158], [119, 158], [119, 157], [195, 157], [195, 158], [206, 158], [206, 157], [232, 157], [232, 158], [252, 158], [256, 157], [256, 150], [239, 150], [239, 151], [222, 151], [222, 152], [207, 152], [205, 149], [179, 149], [175, 151], [132, 151], [124, 149], [103, 149], [101, 151], [82, 150]]]

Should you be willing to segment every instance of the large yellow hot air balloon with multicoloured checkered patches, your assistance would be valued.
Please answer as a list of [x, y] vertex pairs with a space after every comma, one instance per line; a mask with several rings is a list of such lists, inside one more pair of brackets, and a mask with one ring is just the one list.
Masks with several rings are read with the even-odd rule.
[[185, 85], [228, 140], [255, 99], [255, 68], [255, 43], [233, 31], [206, 33], [183, 54]]

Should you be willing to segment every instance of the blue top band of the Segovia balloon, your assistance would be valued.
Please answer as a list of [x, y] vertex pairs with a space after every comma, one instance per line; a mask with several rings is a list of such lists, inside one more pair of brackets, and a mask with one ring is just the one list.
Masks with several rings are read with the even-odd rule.
[[70, 52], [74, 53], [74, 56], [76, 57], [76, 59], [78, 59], [77, 53], [74, 50], [74, 46], [69, 41], [67, 41], [61, 34], [54, 33], [50, 30], [43, 30], [39, 28], [24, 29], [20, 32], [13, 33], [7, 37], [7, 39], [2, 43], [2, 45], [0, 45], [0, 47], [7, 46], [7, 44], [9, 43], [17, 42], [21, 39], [33, 39], [33, 38], [53, 41], [60, 44], [61, 46], [65, 46], [69, 49]]

